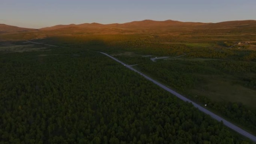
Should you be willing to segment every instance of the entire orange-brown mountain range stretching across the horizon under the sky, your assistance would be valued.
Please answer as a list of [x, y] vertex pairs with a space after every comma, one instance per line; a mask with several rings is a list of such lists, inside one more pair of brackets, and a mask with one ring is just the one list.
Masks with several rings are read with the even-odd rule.
[[69, 24], [55, 25], [40, 29], [20, 28], [0, 24], [0, 34], [38, 32], [43, 34], [132, 34], [132, 33], [230, 33], [252, 32], [256, 30], [255, 20], [226, 21], [219, 23], [180, 22], [180, 21], [133, 21], [124, 24]]

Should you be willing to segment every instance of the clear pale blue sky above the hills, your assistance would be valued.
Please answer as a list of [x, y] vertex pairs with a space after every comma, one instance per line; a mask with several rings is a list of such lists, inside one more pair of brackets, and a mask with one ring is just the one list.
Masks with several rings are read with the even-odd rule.
[[0, 23], [27, 28], [152, 19], [222, 22], [256, 19], [256, 0], [0, 0]]

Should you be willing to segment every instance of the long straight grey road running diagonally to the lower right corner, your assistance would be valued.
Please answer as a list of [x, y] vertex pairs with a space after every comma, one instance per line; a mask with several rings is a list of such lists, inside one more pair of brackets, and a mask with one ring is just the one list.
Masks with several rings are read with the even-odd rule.
[[106, 53], [100, 52], [106, 56], [109, 56], [110, 58], [114, 59], [115, 61], [121, 63], [122, 65], [124, 65], [125, 67], [139, 73], [141, 76], [145, 77], [147, 80], [150, 80], [151, 82], [155, 83], [156, 85], [160, 86], [161, 88], [165, 89], [166, 91], [170, 92], [171, 94], [177, 96], [178, 98], [182, 99], [183, 101], [187, 101], [187, 102], [191, 102], [196, 108], [198, 108], [200, 111], [204, 112], [205, 114], [209, 114], [211, 117], [213, 117], [213, 119], [218, 120], [219, 122], [222, 121], [224, 125], [228, 126], [229, 128], [233, 129], [234, 131], [238, 132], [241, 135], [244, 135], [247, 138], [250, 138], [252, 141], [256, 142], [256, 137], [246, 131], [244, 131], [243, 129], [239, 128], [238, 126], [235, 126], [234, 124], [232, 124], [231, 122], [228, 122], [227, 120], [223, 119], [220, 116], [217, 116], [216, 114], [212, 113], [211, 111], [207, 110], [206, 108], [196, 104], [195, 102], [191, 101], [190, 99], [186, 98], [185, 96], [180, 95], [179, 93], [171, 90], [170, 88], [168, 88], [165, 85], [162, 85], [159, 82], [156, 82], [155, 80], [151, 79], [150, 77], [146, 76], [145, 74], [141, 73], [140, 71], [135, 70], [134, 68], [132, 68], [130, 65], [126, 65], [124, 62], [119, 61], [118, 59], [114, 58], [113, 56], [110, 56]]

